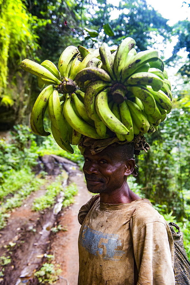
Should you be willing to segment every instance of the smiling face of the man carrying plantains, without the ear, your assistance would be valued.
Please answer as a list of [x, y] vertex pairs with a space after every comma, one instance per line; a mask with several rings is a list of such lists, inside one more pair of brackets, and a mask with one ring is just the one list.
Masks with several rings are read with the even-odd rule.
[[109, 193], [122, 187], [126, 164], [117, 147], [108, 146], [97, 154], [91, 154], [90, 148], [86, 148], [84, 160], [82, 170], [91, 193]]

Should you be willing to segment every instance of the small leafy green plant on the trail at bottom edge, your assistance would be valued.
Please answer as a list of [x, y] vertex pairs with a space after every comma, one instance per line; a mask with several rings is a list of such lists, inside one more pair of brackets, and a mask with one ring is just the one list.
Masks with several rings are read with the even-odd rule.
[[34, 275], [38, 278], [38, 281], [41, 284], [54, 284], [55, 281], [59, 279], [59, 274], [61, 273], [61, 269], [59, 265], [55, 266], [54, 264], [44, 263], [39, 271], [34, 273]]

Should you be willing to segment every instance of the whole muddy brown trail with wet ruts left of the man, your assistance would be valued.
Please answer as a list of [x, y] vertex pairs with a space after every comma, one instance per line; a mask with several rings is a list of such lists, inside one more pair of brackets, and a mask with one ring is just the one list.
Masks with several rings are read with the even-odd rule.
[[[34, 272], [38, 271], [44, 262], [48, 262], [47, 255], [53, 255], [51, 264], [61, 269], [54, 284], [77, 285], [80, 229], [77, 215], [91, 194], [86, 189], [83, 173], [74, 162], [56, 155], [46, 155], [41, 158], [39, 165], [48, 172], [47, 183], [30, 194], [21, 207], [14, 209], [7, 226], [0, 230], [0, 257], [11, 260], [5, 266], [0, 264], [0, 271], [4, 270], [3, 276], [0, 276], [0, 285], [40, 284]], [[68, 179], [63, 183], [63, 191], [66, 184], [77, 184], [78, 194], [74, 197], [75, 202], [60, 210], [61, 197], [58, 197], [53, 208], [32, 211], [34, 198], [46, 192], [46, 186], [55, 180], [61, 169], [68, 174]], [[52, 227], [61, 227], [63, 230], [53, 232]]]

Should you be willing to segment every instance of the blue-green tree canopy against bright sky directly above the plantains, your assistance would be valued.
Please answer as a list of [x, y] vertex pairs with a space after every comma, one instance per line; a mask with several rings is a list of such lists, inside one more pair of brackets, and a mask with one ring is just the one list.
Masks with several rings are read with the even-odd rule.
[[[80, 3], [80, 2], [79, 2]], [[154, 10], [146, 1], [120, 1], [119, 6], [108, 4], [106, 1], [97, 1], [90, 3], [96, 13], [90, 12], [92, 7], [88, 2], [86, 4], [86, 19], [88, 28], [99, 31], [96, 38], [89, 38], [84, 34], [86, 46], [93, 47], [94, 44], [108, 42], [109, 45], [119, 44], [127, 36], [131, 36], [137, 42], [137, 50], [146, 50], [147, 46], [155, 46], [155, 38], [159, 34], [163, 37], [164, 43], [166, 38], [171, 36], [172, 28], [167, 25], [167, 19], [164, 19], [157, 11]], [[118, 17], [110, 20], [111, 12], [115, 11]], [[84, 25], [85, 19], [83, 18]], [[114, 33], [107, 31], [110, 25]], [[104, 29], [105, 27], [105, 29]]]

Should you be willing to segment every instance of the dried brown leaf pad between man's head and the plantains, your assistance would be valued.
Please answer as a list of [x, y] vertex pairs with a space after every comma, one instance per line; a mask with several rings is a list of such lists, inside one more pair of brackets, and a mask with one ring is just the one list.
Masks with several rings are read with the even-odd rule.
[[[109, 138], [109, 139], [92, 139], [90, 137], [82, 136], [81, 141], [79, 143], [80, 152], [81, 154], [84, 153], [85, 147], [90, 147], [91, 154], [97, 154], [98, 152], [102, 151], [109, 145], [117, 146], [118, 144], [126, 144], [126, 143], [133, 143], [134, 144], [134, 154], [139, 155], [141, 150], [147, 152], [150, 149], [150, 146], [145, 141], [145, 137], [141, 135], [137, 135], [131, 142], [128, 141], [119, 141], [117, 137]], [[135, 177], [137, 176], [138, 167], [135, 165], [135, 169], [132, 175]]]

